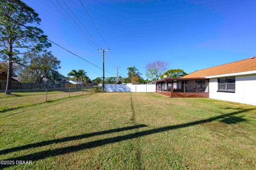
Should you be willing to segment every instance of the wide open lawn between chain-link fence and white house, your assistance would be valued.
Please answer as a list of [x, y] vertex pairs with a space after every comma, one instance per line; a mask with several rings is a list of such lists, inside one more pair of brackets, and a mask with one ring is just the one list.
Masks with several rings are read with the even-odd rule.
[[92, 93], [0, 115], [6, 169], [255, 169], [256, 107]]

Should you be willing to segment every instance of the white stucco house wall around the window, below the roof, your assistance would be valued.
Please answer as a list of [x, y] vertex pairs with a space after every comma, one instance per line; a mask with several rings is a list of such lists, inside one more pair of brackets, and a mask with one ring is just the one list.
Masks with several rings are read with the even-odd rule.
[[210, 78], [209, 98], [256, 105], [256, 75], [235, 77], [235, 93], [217, 92], [218, 78]]

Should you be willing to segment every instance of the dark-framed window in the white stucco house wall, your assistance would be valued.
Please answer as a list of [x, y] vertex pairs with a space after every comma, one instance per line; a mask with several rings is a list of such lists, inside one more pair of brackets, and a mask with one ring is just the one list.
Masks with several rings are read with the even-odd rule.
[[236, 78], [235, 77], [218, 78], [218, 91], [235, 92]]

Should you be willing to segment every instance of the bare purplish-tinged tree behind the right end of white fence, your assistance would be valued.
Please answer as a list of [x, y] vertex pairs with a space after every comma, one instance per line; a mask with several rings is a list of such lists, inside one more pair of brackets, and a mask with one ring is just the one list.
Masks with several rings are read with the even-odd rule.
[[169, 63], [165, 61], [156, 60], [154, 62], [149, 62], [146, 65], [146, 76], [151, 80], [158, 80], [163, 72], [167, 69]]

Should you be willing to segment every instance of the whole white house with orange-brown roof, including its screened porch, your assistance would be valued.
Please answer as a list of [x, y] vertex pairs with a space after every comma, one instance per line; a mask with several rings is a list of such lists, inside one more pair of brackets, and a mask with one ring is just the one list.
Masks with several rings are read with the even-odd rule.
[[256, 105], [256, 57], [155, 83], [157, 93], [171, 98], [211, 98]]

